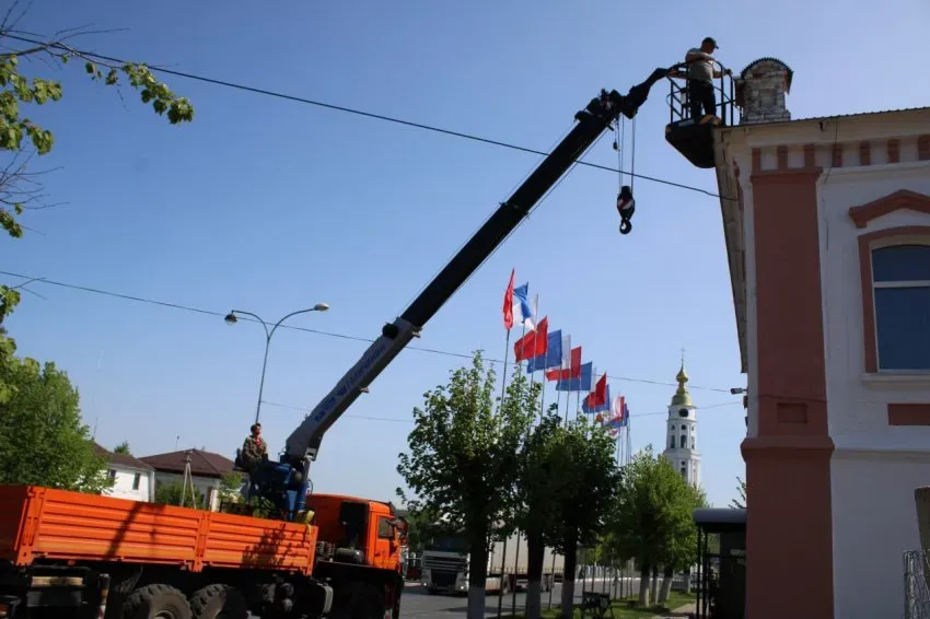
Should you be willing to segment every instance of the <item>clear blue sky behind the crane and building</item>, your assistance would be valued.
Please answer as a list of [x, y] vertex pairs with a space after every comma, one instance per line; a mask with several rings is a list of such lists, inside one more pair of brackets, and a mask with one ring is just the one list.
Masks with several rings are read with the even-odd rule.
[[[777, 5], [685, 2], [254, 2], [81, 5], [36, 0], [23, 24], [50, 33], [127, 28], [83, 40], [103, 54], [244, 82], [549, 149], [602, 86], [621, 92], [683, 59], [704, 36], [735, 70], [776, 56], [794, 70], [795, 118], [926, 105], [915, 75], [930, 19], [923, 0]], [[583, 8], [582, 8], [583, 7]], [[859, 45], [860, 43], [864, 45]], [[46, 72], [40, 65], [35, 70]], [[51, 200], [40, 231], [2, 244], [4, 270], [268, 320], [373, 338], [484, 222], [537, 157], [338, 112], [171, 78], [196, 121], [167, 122], [137, 101], [57, 72], [62, 103], [30, 110], [55, 131], [40, 162]], [[664, 142], [666, 87], [638, 117], [636, 171], [716, 191]], [[129, 96], [127, 91], [127, 96]], [[616, 164], [609, 139], [590, 161]], [[39, 162], [36, 162], [38, 164]], [[629, 160], [627, 160], [627, 164]], [[553, 328], [627, 396], [635, 447], [664, 443], [679, 349], [699, 407], [702, 481], [717, 505], [743, 475], [744, 386], [720, 206], [637, 180], [632, 234], [617, 233], [617, 177], [576, 170], [427, 326], [418, 344], [500, 359], [511, 268]], [[18, 283], [4, 278], [8, 283]], [[97, 440], [137, 455], [197, 446], [234, 454], [254, 416], [260, 327], [33, 284], [9, 320], [20, 352], [55, 360], [82, 395]], [[357, 360], [359, 341], [279, 330], [265, 399], [312, 407]], [[326, 436], [317, 491], [394, 499], [411, 407], [463, 361], [405, 351]], [[712, 387], [709, 390], [698, 387]], [[549, 392], [551, 398], [553, 392]], [[651, 413], [651, 414], [649, 414]], [[363, 417], [388, 418], [375, 421]], [[301, 413], [266, 405], [272, 452]]]

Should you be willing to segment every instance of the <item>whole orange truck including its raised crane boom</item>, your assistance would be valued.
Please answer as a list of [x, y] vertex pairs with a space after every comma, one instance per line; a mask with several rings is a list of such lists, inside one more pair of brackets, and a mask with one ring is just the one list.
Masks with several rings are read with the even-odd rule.
[[576, 113], [571, 131], [293, 430], [280, 462], [243, 467], [236, 457], [247, 468], [247, 499], [270, 504], [277, 519], [0, 487], [0, 618], [216, 619], [257, 609], [261, 619], [397, 619], [406, 523], [390, 503], [310, 490], [323, 437], [597, 139], [621, 114], [632, 119], [671, 71], [655, 69], [626, 95], [602, 90]]

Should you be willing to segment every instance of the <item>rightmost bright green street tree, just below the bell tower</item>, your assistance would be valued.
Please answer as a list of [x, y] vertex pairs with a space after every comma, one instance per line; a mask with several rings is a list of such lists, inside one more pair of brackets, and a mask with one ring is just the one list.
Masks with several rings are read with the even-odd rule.
[[616, 553], [636, 559], [640, 569], [641, 606], [649, 605], [650, 575], [660, 567], [674, 570], [695, 560], [697, 528], [694, 510], [702, 493], [689, 486], [652, 445], [624, 469], [611, 533]]

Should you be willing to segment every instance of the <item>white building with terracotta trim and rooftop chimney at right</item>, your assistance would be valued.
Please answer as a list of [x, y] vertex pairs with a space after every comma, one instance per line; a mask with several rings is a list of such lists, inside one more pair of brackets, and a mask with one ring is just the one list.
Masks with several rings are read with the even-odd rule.
[[751, 63], [742, 122], [714, 130], [748, 383], [746, 614], [902, 617], [930, 484], [930, 108], [792, 120], [791, 78]]

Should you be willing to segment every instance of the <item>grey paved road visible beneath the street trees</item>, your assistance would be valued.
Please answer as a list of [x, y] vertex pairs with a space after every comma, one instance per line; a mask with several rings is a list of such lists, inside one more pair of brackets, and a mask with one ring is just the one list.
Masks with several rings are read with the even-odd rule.
[[[608, 586], [611, 586], [608, 584]], [[627, 593], [630, 587], [639, 586], [639, 579], [626, 579], [626, 583], [624, 585], [626, 589], [623, 593]], [[605, 591], [604, 581], [598, 580], [592, 583], [591, 580], [585, 582], [586, 591], [596, 591], [602, 592]], [[613, 593], [613, 592], [612, 592]], [[620, 592], [617, 592], [620, 593]], [[576, 582], [574, 585], [574, 596], [576, 602], [581, 602], [581, 581]], [[516, 594], [516, 611], [522, 612], [525, 605], [526, 595], [522, 593]], [[556, 585], [553, 589], [553, 606], [556, 606], [558, 602], [561, 599], [561, 585]], [[548, 608], [549, 594], [543, 594], [543, 608]], [[503, 599], [503, 607], [501, 608], [501, 617], [507, 617], [510, 615], [513, 604], [513, 595], [507, 594]], [[452, 595], [429, 595], [427, 591], [418, 585], [411, 585], [404, 591], [404, 596], [400, 598], [400, 617], [402, 619], [426, 619], [428, 617], [465, 617], [465, 609], [468, 606], [468, 599], [466, 596], [452, 596]], [[489, 594], [487, 597], [486, 605], [486, 617], [497, 617], [498, 609], [498, 596]]]

